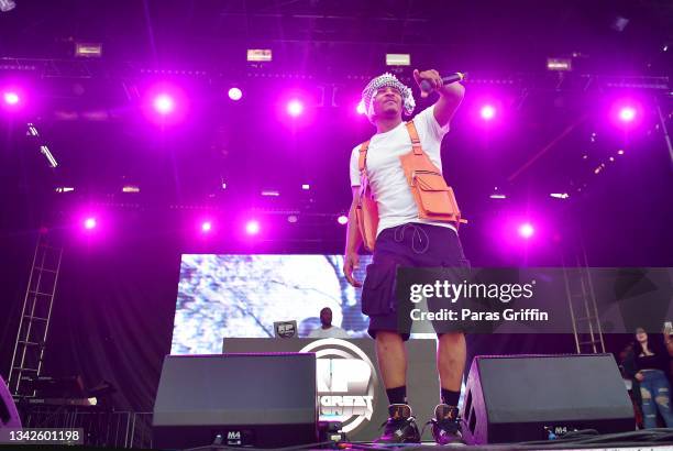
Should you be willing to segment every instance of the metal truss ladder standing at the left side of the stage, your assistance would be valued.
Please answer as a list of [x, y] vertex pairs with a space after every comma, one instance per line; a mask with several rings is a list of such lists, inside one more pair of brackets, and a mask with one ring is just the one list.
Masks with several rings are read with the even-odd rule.
[[40, 376], [42, 371], [63, 257], [63, 244], [56, 245], [54, 241], [53, 233], [40, 231], [9, 372], [9, 389], [15, 397], [35, 396], [25, 382]]

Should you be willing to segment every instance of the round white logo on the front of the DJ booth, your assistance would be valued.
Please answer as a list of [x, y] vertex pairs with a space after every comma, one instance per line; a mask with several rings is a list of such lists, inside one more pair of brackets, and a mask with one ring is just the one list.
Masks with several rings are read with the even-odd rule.
[[378, 375], [360, 348], [345, 340], [323, 339], [299, 352], [316, 353], [320, 420], [341, 421], [347, 433], [372, 419]]

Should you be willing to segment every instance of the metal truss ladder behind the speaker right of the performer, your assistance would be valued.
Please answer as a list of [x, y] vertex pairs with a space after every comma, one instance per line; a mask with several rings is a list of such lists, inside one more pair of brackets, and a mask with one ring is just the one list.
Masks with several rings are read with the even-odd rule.
[[567, 306], [575, 336], [575, 349], [577, 354], [605, 353], [596, 295], [582, 239], [580, 239], [580, 249], [573, 250], [571, 246], [570, 252], [574, 255], [569, 257], [562, 254], [561, 257]]

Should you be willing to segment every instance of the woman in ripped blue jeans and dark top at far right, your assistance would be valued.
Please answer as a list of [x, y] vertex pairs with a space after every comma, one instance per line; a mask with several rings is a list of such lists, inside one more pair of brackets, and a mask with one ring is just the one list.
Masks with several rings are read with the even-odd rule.
[[[673, 340], [664, 331], [663, 342], [649, 340], [643, 328], [636, 329], [636, 342], [632, 351], [632, 365], [625, 366], [640, 386], [640, 407], [646, 429], [657, 427], [657, 413], [661, 415], [668, 428], [673, 427], [671, 409], [671, 385], [668, 380], [669, 362], [673, 356]], [[630, 359], [630, 356], [627, 356]], [[635, 373], [633, 373], [635, 371]]]

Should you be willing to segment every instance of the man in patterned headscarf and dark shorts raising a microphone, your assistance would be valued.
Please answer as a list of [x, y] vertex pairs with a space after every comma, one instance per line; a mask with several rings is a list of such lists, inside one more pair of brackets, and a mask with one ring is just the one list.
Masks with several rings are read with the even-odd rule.
[[[459, 108], [464, 87], [459, 82], [443, 85], [437, 70], [413, 72], [420, 86], [430, 82], [439, 100], [418, 113], [412, 122], [421, 148], [440, 170], [440, 145], [449, 131], [449, 123]], [[427, 94], [423, 92], [423, 96]], [[411, 89], [394, 75], [374, 78], [364, 89], [362, 100], [376, 134], [366, 148], [363, 174], [368, 179], [378, 208], [378, 227], [373, 263], [367, 267], [363, 288], [363, 311], [369, 316], [369, 334], [376, 340], [378, 366], [389, 400], [389, 418], [377, 442], [419, 442], [420, 433], [411, 408], [407, 404], [408, 333], [400, 332], [397, 312], [390, 308], [396, 300], [377, 299], [382, 293], [395, 296], [396, 265], [413, 267], [465, 266], [467, 262], [457, 237], [455, 223], [419, 219], [419, 207], [411, 193], [400, 156], [411, 151], [410, 127], [402, 121], [402, 112], [410, 116], [415, 108]], [[418, 145], [418, 144], [416, 144]], [[349, 283], [358, 266], [357, 250], [363, 242], [356, 219], [361, 189], [361, 146], [351, 155], [351, 186], [353, 204], [349, 213], [343, 272]], [[457, 402], [465, 366], [465, 337], [462, 332], [438, 333], [437, 366], [441, 385], [441, 404], [431, 419], [432, 436], [440, 444], [460, 441]]]

